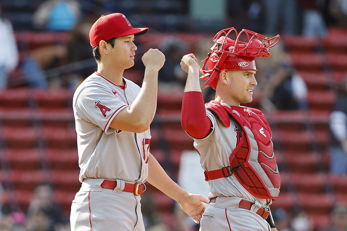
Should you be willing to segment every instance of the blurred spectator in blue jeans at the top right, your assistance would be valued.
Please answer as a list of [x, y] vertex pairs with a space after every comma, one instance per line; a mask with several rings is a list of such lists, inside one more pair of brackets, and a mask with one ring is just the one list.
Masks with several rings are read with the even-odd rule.
[[303, 13], [301, 34], [307, 37], [326, 36], [327, 28], [323, 17], [324, 1], [298, 1], [298, 5]]

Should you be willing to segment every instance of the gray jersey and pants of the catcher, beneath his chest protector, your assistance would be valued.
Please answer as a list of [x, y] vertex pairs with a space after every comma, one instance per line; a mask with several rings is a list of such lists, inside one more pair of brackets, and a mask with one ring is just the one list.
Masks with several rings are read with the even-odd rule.
[[[212, 122], [211, 132], [202, 139], [194, 138], [194, 147], [200, 153], [200, 162], [205, 171], [221, 169], [229, 166], [229, 157], [237, 145], [242, 129], [231, 119], [230, 127], [223, 125], [215, 114], [207, 110]], [[264, 205], [270, 205], [270, 199], [261, 199], [249, 193], [234, 175], [208, 181], [209, 198], [217, 197], [210, 203], [201, 220], [201, 230], [270, 230], [265, 219], [255, 213]], [[253, 201], [252, 211], [238, 208], [241, 199]], [[254, 224], [245, 224], [245, 217], [251, 217]], [[249, 228], [247, 228], [249, 226]]]

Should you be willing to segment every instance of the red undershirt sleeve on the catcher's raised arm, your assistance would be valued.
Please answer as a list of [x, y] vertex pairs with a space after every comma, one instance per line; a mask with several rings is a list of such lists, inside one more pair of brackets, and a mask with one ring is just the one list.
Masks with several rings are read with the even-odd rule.
[[204, 138], [209, 134], [212, 123], [206, 115], [205, 102], [201, 92], [185, 92], [181, 124], [183, 129], [194, 138]]

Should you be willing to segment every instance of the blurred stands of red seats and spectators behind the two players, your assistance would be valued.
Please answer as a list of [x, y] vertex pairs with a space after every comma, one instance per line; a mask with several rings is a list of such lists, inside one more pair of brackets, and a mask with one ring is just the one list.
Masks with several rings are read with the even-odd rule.
[[[272, 56], [256, 60], [258, 86], [245, 105], [261, 109], [273, 130], [282, 181], [275, 222], [282, 231], [347, 230], [347, 0], [1, 0], [0, 230], [70, 230], [80, 186], [72, 95], [96, 71], [91, 25], [115, 12], [149, 28], [135, 38], [125, 78], [141, 85], [149, 48], [166, 57], [151, 153], [182, 187], [204, 196], [198, 154], [180, 123], [180, 60], [191, 52], [205, 59], [225, 28], [279, 34]], [[210, 88], [203, 94], [206, 102], [214, 97]], [[142, 210], [146, 230], [199, 229], [150, 185]]]

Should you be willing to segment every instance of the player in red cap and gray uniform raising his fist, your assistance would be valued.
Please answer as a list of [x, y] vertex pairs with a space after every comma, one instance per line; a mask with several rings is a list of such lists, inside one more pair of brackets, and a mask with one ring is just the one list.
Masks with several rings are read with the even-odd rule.
[[179, 187], [149, 152], [164, 55], [149, 49], [142, 56], [141, 88], [122, 76], [134, 65], [135, 36], [147, 31], [133, 28], [120, 13], [101, 16], [90, 29], [97, 72], [73, 97], [82, 185], [71, 205], [72, 231], [144, 230], [145, 181], [177, 200], [196, 222], [206, 208], [202, 202], [208, 199]]

